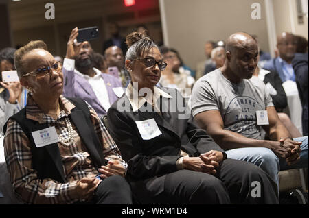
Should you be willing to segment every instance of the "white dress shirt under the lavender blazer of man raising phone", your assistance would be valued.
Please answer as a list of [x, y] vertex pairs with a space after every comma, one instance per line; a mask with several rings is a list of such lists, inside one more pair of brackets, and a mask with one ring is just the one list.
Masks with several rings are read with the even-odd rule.
[[96, 73], [94, 77], [89, 77], [89, 75], [82, 74], [76, 69], [75, 73], [77, 73], [81, 77], [84, 77], [89, 82], [91, 88], [93, 89], [93, 92], [95, 93], [95, 96], [98, 98], [98, 101], [100, 101], [102, 107], [107, 111], [108, 108], [111, 108], [111, 104], [109, 102], [105, 82], [103, 80], [103, 77], [101, 76], [102, 72], [96, 69], [95, 67], [93, 67], [93, 70]]

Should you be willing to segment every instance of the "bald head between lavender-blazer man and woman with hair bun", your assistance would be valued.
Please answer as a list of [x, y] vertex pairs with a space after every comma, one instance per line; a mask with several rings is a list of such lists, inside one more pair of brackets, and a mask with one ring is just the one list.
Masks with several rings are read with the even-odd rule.
[[119, 71], [124, 68], [124, 54], [122, 53], [122, 49], [116, 45], [108, 47], [104, 52], [104, 56], [107, 67], [117, 66]]

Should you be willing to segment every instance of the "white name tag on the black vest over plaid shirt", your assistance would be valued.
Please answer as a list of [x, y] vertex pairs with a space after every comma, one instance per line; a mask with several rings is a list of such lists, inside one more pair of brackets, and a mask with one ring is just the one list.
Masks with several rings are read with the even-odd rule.
[[44, 147], [52, 143], [58, 143], [59, 141], [58, 134], [54, 126], [31, 133], [36, 147]]

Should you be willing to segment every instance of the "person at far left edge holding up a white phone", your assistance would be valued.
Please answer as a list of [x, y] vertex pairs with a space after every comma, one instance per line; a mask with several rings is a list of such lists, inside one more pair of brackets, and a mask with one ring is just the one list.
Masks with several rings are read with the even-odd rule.
[[3, 134], [3, 126], [19, 110], [27, 104], [27, 89], [20, 82], [3, 82], [2, 71], [13, 71], [14, 53], [16, 49], [5, 48], [0, 51], [0, 136]]

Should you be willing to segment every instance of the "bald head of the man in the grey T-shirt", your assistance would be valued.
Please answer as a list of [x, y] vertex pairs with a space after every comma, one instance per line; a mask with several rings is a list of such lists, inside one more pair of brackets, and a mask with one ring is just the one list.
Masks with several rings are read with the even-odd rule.
[[227, 39], [224, 69], [231, 82], [252, 77], [258, 65], [258, 42], [247, 33], [237, 32]]

